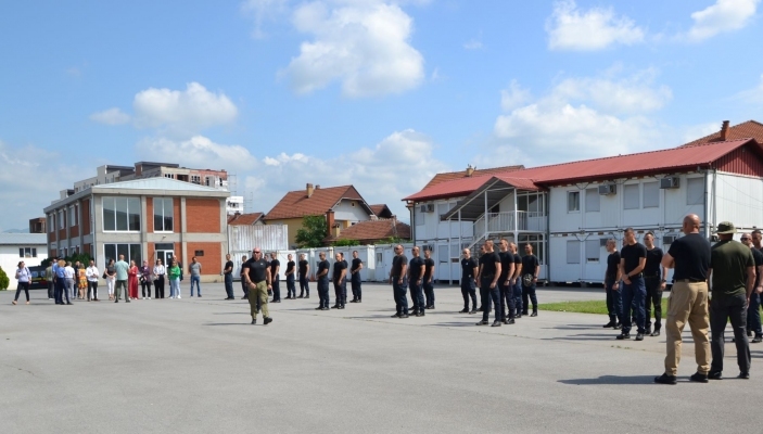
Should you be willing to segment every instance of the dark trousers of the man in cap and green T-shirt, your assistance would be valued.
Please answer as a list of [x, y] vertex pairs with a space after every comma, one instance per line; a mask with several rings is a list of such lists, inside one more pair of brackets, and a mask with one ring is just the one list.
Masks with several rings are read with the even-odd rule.
[[740, 372], [750, 372], [750, 343], [747, 340], [747, 294], [713, 296], [710, 302], [711, 372], [723, 372], [723, 346], [726, 322], [732, 321], [734, 343], [737, 345], [737, 365]]

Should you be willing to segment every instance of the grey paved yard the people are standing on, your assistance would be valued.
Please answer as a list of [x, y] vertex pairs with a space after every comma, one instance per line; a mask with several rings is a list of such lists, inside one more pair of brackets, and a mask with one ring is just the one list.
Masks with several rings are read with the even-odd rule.
[[424, 318], [391, 319], [391, 289], [367, 284], [345, 310], [314, 310], [316, 294], [270, 305], [267, 327], [250, 326], [246, 302], [222, 301], [219, 284], [203, 298], [131, 304], [44, 295], [11, 306], [0, 293], [3, 433], [761, 431], [763, 344], [752, 380], [696, 384], [688, 339], [682, 381], [664, 386], [652, 384], [663, 337], [622, 343], [602, 316], [547, 311], [475, 327], [455, 314], [456, 288], [437, 289]]

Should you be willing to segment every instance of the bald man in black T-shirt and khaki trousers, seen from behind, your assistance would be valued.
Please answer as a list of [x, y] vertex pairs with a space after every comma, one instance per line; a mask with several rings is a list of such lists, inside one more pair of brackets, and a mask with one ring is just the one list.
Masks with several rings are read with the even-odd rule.
[[681, 333], [689, 323], [695, 341], [697, 372], [691, 381], [708, 382], [710, 371], [710, 340], [708, 329], [708, 277], [710, 269], [710, 242], [699, 234], [700, 221], [695, 214], [684, 217], [684, 237], [675, 240], [662, 258], [662, 266], [674, 268], [673, 289], [669, 301], [665, 329], [667, 355], [665, 372], [654, 378], [656, 383], [676, 384], [681, 361]]

